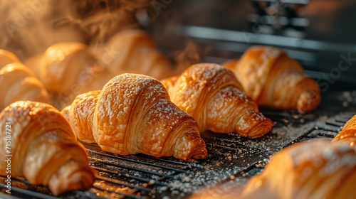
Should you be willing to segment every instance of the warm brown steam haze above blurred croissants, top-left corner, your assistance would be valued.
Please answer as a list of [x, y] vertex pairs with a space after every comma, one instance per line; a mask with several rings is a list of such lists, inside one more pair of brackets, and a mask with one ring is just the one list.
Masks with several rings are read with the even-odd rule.
[[1, 0], [0, 48], [21, 59], [58, 42], [101, 43], [137, 26], [136, 9], [152, 0]]

